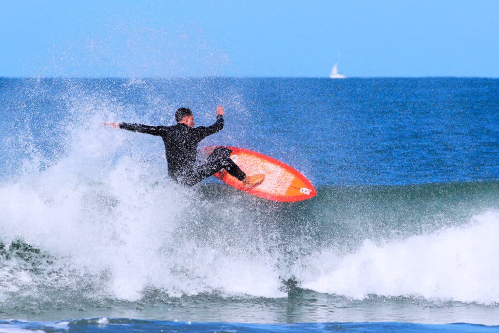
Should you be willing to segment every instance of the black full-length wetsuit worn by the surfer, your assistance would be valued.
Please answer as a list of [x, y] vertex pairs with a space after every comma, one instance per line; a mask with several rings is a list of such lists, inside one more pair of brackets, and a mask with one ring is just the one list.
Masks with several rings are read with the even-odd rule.
[[245, 179], [245, 173], [231, 160], [231, 150], [224, 147], [216, 148], [208, 156], [207, 163], [197, 165], [198, 143], [208, 135], [217, 133], [224, 128], [224, 117], [217, 116], [217, 121], [211, 126], [191, 128], [178, 123], [174, 126], [148, 126], [142, 124], [120, 123], [120, 128], [129, 131], [161, 136], [165, 143], [168, 174], [176, 182], [192, 186], [216, 172], [226, 169], [229, 174], [239, 180]]

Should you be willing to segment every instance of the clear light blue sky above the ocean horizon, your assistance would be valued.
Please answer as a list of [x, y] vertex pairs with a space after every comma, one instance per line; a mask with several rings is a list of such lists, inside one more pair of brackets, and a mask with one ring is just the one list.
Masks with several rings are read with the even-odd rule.
[[499, 77], [499, 1], [0, 1], [0, 76]]

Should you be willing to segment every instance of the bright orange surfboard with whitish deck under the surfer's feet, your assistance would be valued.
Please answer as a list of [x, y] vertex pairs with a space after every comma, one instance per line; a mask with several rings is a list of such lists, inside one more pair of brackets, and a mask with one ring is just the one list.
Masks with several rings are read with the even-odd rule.
[[[289, 165], [248, 149], [225, 147], [232, 150], [231, 159], [247, 175], [265, 174], [263, 182], [252, 189], [245, 189], [243, 182], [231, 176], [226, 170], [214, 175], [226, 184], [256, 197], [280, 202], [306, 200], [317, 194], [310, 181]], [[205, 147], [205, 149], [210, 148], [215, 147]]]

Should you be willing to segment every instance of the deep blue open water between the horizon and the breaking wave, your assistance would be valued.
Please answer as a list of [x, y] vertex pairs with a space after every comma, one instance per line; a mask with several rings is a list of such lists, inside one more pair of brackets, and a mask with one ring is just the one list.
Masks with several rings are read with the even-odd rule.
[[[261, 151], [316, 184], [499, 177], [498, 79], [3, 78], [0, 94], [2, 132], [30, 130], [42, 149], [59, 148], [53, 126], [90, 117], [88, 107], [106, 120], [160, 125], [173, 124], [175, 110], [187, 106], [198, 125], [207, 125], [224, 104], [226, 128], [207, 143]], [[135, 141], [156, 142], [161, 156], [158, 140]]]

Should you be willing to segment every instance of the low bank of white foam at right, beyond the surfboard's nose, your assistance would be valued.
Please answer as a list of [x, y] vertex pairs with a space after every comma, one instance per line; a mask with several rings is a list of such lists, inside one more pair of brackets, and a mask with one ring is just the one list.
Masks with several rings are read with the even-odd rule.
[[363, 299], [416, 296], [495, 304], [499, 302], [499, 212], [475, 216], [462, 227], [375, 245], [355, 253], [322, 250], [303, 258], [302, 287]]

